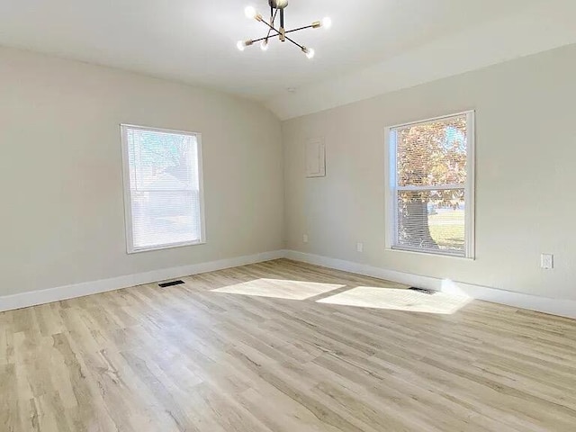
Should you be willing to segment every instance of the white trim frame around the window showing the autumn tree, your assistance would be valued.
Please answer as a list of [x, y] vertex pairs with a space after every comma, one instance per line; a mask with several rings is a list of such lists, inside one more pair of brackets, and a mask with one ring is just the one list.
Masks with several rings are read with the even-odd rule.
[[[410, 247], [392, 247], [393, 238], [398, 232], [398, 220], [396, 217], [396, 204], [394, 203], [394, 195], [396, 189], [396, 147], [392, 148], [392, 143], [390, 142], [391, 131], [396, 128], [405, 126], [414, 126], [422, 123], [428, 123], [429, 121], [443, 120], [449, 117], [455, 117], [458, 115], [466, 115], [466, 122], [468, 126], [468, 136], [466, 142], [466, 184], [464, 184], [464, 194], [466, 196], [466, 211], [464, 213], [464, 257], [462, 255], [457, 255], [449, 251], [442, 252], [437, 250], [426, 250], [421, 248], [410, 248]], [[435, 257], [454, 257], [460, 259], [475, 259], [476, 251], [476, 234], [475, 234], [475, 140], [476, 140], [476, 130], [475, 130], [475, 112], [474, 110], [455, 112], [452, 114], [446, 114], [439, 117], [433, 117], [426, 120], [411, 121], [408, 123], [395, 124], [392, 126], [387, 126], [384, 129], [384, 175], [385, 175], [385, 248], [387, 251], [403, 252], [403, 253], [413, 253], [418, 255], [433, 255]], [[448, 185], [450, 187], [451, 185]], [[459, 186], [458, 188], [462, 188]]]

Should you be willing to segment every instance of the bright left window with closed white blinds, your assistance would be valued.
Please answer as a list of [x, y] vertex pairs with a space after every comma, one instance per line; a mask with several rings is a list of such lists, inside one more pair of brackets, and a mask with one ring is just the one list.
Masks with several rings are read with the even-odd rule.
[[121, 125], [128, 252], [204, 241], [200, 134]]

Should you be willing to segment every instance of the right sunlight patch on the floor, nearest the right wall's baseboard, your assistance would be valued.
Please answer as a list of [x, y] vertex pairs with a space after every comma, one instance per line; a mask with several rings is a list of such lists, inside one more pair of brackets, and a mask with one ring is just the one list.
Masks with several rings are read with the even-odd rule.
[[317, 302], [361, 308], [449, 315], [472, 302], [472, 300], [472, 298], [463, 295], [447, 293], [428, 294], [412, 290], [359, 286], [344, 293], [320, 299]]

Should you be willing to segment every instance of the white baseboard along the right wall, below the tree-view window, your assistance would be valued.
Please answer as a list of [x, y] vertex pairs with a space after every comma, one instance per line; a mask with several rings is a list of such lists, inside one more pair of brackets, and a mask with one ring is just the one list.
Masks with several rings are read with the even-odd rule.
[[345, 272], [356, 273], [357, 275], [377, 277], [399, 284], [417, 286], [442, 293], [464, 294], [473, 299], [484, 300], [486, 302], [507, 304], [516, 308], [576, 319], [576, 301], [573, 300], [551, 299], [537, 295], [490, 288], [488, 286], [465, 284], [429, 276], [410, 275], [381, 267], [366, 266], [365, 264], [352, 261], [321, 257], [320, 255], [306, 254], [295, 250], [284, 250], [284, 257], [317, 266], [325, 266]]

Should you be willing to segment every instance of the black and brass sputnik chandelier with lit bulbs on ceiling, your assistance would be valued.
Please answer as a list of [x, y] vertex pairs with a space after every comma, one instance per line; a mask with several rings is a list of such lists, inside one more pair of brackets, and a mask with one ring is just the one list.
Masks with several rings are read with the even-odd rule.
[[[278, 37], [278, 39], [281, 42], [285, 42], [286, 40], [288, 40], [289, 42], [292, 42], [294, 45], [296, 45], [298, 48], [302, 49], [302, 52], [304, 54], [306, 54], [307, 58], [313, 58], [314, 57], [314, 49], [307, 48], [307, 47], [301, 45], [300, 43], [294, 41], [293, 39], [291, 39], [289, 36], [286, 36], [286, 35], [288, 33], [293, 33], [294, 31], [301, 31], [304, 29], [319, 29], [320, 27], [324, 27], [325, 29], [329, 29], [330, 26], [332, 25], [332, 21], [329, 18], [324, 18], [322, 21], [315, 21], [314, 23], [311, 23], [310, 25], [306, 25], [304, 27], [298, 27], [297, 29], [293, 29], [293, 30], [285, 30], [284, 29], [284, 9], [288, 5], [288, 0], [268, 0], [268, 4], [270, 5], [270, 21], [269, 22], [266, 22], [264, 17], [261, 14], [258, 14], [257, 10], [254, 7], [252, 7], [252, 6], [246, 7], [246, 9], [244, 10], [244, 14], [246, 14], [247, 18], [255, 19], [259, 23], [266, 24], [266, 26], [268, 27], [268, 33], [266, 34], [266, 37], [264, 37], [264, 38], [259, 38], [259, 39], [254, 39], [254, 40], [252, 40], [252, 39], [238, 40], [238, 44], [237, 44], [238, 49], [240, 51], [243, 51], [244, 49], [246, 49], [246, 47], [249, 47], [250, 45], [254, 45], [257, 42], [260, 42], [260, 48], [263, 51], [266, 51], [266, 49], [268, 49], [268, 42], [271, 39]], [[278, 15], [280, 15], [279, 16], [280, 28], [276, 29], [275, 22], [276, 22], [276, 17]]]

